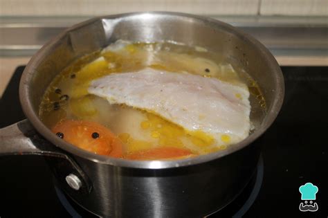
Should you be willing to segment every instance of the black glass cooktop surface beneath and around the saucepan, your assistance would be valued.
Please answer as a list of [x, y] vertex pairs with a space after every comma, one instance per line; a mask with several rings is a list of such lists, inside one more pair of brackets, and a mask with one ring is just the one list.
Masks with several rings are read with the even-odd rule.
[[[17, 67], [0, 100], [0, 127], [24, 119], [18, 100], [23, 70]], [[257, 174], [236, 201], [210, 217], [328, 216], [328, 67], [282, 71], [284, 105], [262, 137]], [[55, 188], [40, 156], [0, 157], [0, 175], [1, 218], [89, 217]]]

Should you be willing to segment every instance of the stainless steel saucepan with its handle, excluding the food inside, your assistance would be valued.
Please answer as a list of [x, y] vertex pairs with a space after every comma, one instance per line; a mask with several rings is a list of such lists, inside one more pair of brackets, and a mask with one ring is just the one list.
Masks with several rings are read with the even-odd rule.
[[[183, 42], [222, 53], [257, 81], [267, 111], [252, 111], [255, 130], [237, 145], [184, 160], [129, 161], [70, 145], [39, 119], [44, 91], [73, 60], [118, 39]], [[233, 26], [195, 15], [142, 12], [98, 17], [64, 31], [30, 60], [19, 95], [28, 120], [0, 129], [0, 155], [45, 156], [60, 188], [96, 215], [201, 217], [226, 206], [250, 181], [262, 146], [255, 139], [280, 110], [284, 80], [268, 49]]]

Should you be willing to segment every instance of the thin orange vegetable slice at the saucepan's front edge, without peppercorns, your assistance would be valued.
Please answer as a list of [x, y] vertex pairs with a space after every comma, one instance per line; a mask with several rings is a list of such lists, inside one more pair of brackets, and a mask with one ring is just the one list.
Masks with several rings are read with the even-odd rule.
[[188, 149], [177, 147], [156, 147], [127, 154], [125, 158], [130, 160], [160, 160], [187, 158], [193, 155], [194, 154]]

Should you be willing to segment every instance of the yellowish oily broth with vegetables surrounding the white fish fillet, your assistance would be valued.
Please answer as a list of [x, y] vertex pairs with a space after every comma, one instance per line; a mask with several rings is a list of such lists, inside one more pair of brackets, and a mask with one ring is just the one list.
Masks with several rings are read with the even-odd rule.
[[[102, 51], [76, 60], [59, 73], [44, 94], [39, 116], [57, 136], [82, 149], [129, 159], [187, 158], [226, 149], [238, 142], [238, 138], [228, 133], [220, 134], [217, 139], [204, 131], [190, 131], [156, 111], [125, 103], [113, 104], [109, 98], [90, 93], [95, 80], [145, 69], [168, 75], [199, 75], [199, 78], [215, 78], [235, 87], [248, 87], [252, 113], [265, 113], [265, 101], [256, 82], [224, 55], [172, 42], [119, 40]], [[134, 83], [127, 84], [122, 91], [133, 86]], [[242, 96], [237, 93], [235, 98]], [[253, 125], [249, 130], [252, 131], [258, 124], [250, 120], [250, 125]], [[121, 147], [115, 155], [111, 153], [114, 144]]]

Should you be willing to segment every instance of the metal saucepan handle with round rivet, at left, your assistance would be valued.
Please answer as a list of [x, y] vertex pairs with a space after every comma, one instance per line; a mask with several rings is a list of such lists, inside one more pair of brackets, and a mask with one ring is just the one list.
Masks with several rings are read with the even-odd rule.
[[0, 156], [42, 155], [66, 192], [91, 192], [91, 181], [69, 154], [37, 133], [28, 120], [0, 129]]

